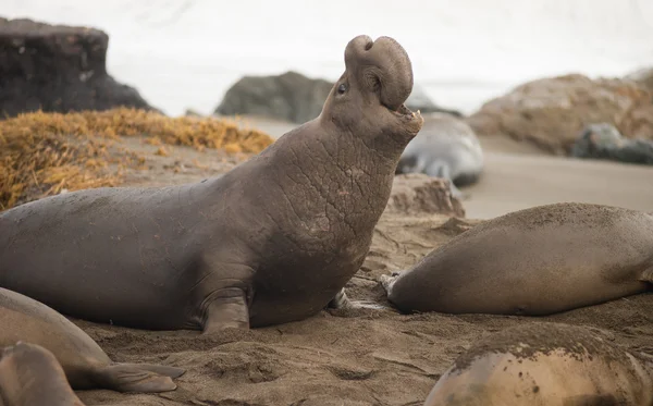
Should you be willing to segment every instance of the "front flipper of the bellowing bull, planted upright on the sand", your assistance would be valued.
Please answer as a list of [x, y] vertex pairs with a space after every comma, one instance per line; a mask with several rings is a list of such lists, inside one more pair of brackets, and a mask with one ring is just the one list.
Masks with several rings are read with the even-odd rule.
[[205, 310], [202, 334], [211, 334], [227, 328], [249, 329], [249, 308], [243, 290], [223, 288], [215, 292]]

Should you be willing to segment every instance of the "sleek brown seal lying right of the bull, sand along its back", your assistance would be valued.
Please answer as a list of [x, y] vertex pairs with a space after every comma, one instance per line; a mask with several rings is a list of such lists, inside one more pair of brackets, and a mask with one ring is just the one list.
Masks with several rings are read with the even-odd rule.
[[381, 275], [402, 311], [529, 316], [642, 293], [652, 281], [653, 216], [577, 202], [495, 218]]

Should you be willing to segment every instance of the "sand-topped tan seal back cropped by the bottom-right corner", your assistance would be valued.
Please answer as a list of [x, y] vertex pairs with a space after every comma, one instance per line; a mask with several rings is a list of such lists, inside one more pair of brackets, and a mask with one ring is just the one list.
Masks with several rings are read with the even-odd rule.
[[424, 406], [649, 406], [653, 358], [590, 329], [535, 322], [475, 343]]

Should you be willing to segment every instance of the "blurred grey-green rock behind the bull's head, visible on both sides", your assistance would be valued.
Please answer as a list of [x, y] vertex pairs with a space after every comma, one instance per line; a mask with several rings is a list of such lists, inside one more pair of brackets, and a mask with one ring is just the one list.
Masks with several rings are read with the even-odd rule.
[[[333, 82], [293, 71], [275, 76], [245, 76], [226, 90], [214, 113], [261, 115], [300, 124], [320, 115], [332, 87]], [[438, 111], [461, 116], [458, 111], [435, 106], [417, 86], [406, 106], [422, 113]]]

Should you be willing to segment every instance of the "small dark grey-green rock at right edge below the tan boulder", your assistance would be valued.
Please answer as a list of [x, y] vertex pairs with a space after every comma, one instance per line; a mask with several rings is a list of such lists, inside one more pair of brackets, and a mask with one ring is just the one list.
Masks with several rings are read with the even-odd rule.
[[571, 148], [575, 158], [653, 164], [653, 140], [624, 138], [608, 123], [588, 125]]

